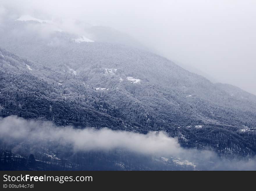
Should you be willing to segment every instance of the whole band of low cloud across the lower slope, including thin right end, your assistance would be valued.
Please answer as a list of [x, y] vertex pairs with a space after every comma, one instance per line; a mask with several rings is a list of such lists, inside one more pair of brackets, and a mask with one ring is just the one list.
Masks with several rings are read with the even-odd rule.
[[[207, 170], [255, 170], [255, 159], [221, 159], [210, 150], [182, 148], [177, 138], [168, 137], [165, 132], [139, 134], [127, 131], [115, 131], [108, 128], [76, 129], [56, 127], [51, 122], [25, 120], [19, 117], [0, 118], [0, 139], [2, 143], [56, 143], [73, 152], [127, 150], [136, 154], [160, 157], [176, 157], [201, 163]], [[71, 146], [71, 147], [70, 147]], [[211, 164], [211, 165], [209, 165]]]

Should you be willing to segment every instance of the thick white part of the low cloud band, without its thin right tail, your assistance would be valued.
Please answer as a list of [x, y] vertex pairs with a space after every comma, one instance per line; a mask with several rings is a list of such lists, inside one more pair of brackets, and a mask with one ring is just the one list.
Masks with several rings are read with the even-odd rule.
[[179, 154], [183, 152], [176, 138], [164, 132], [139, 134], [127, 131], [114, 131], [108, 128], [75, 129], [56, 127], [51, 122], [25, 120], [18, 117], [1, 119], [0, 138], [4, 140], [41, 142], [56, 141], [71, 144], [76, 151], [112, 150], [121, 148], [142, 154]]

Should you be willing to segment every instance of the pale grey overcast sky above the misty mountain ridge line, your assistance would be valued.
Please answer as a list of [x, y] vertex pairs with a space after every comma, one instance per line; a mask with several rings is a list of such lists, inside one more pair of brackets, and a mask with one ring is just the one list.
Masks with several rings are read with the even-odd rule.
[[22, 14], [41, 13], [113, 27], [158, 54], [256, 94], [255, 0], [0, 2], [12, 4]]

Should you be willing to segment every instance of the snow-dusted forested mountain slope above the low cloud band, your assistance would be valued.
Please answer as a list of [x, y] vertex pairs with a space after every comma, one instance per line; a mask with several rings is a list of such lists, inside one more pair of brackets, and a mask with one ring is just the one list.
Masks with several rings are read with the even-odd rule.
[[[239, 93], [244, 99], [241, 95], [232, 96], [219, 84], [184, 70], [166, 58], [131, 46], [96, 41], [76, 43], [72, 39], [77, 37], [65, 32], [48, 36], [40, 36], [35, 30], [15, 33], [17, 28], [26, 27], [26, 23], [19, 22], [0, 30], [1, 46], [24, 57], [17, 66], [17, 56], [2, 51], [3, 58], [10, 57], [7, 61], [2, 59], [2, 70], [10, 68], [14, 72], [10, 73], [12, 78], [19, 77], [14, 84], [8, 81], [12, 83], [10, 87], [15, 87], [13, 95], [21, 87], [28, 88], [23, 86], [22, 77], [33, 86], [36, 83], [26, 76], [27, 72], [39, 81], [43, 79], [37, 87], [49, 83], [44, 91], [36, 89], [37, 99], [26, 94], [29, 100], [37, 100], [34, 106], [40, 108], [43, 103], [47, 109], [34, 113], [33, 107], [27, 106], [29, 112], [20, 112], [19, 103], [15, 109], [1, 106], [4, 114], [46, 116], [60, 124], [106, 126], [141, 133], [165, 130], [170, 136], [180, 137], [180, 142], [188, 147], [211, 147], [220, 153], [229, 153], [230, 149], [239, 154], [255, 152], [255, 143], [250, 137], [253, 135], [239, 131], [244, 126], [255, 128], [255, 96], [246, 92]], [[25, 58], [33, 62], [26, 62]], [[16, 66], [23, 68], [26, 75], [15, 75], [19, 73]], [[4, 76], [10, 80], [8, 75]], [[58, 101], [52, 115], [48, 112], [54, 104], [51, 101]], [[196, 128], [198, 125], [202, 128]], [[221, 143], [219, 137], [223, 138]], [[242, 153], [243, 150], [246, 152]]]

